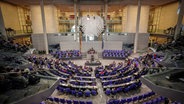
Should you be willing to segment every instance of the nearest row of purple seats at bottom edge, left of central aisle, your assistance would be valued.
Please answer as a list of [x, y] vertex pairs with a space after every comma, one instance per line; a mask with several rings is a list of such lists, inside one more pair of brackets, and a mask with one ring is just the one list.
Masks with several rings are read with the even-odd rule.
[[[82, 101], [82, 100], [69, 100], [63, 98], [49, 97], [46, 101], [61, 104], [93, 104], [92, 101]], [[40, 104], [47, 104], [46, 101], [42, 101]], [[50, 103], [49, 103], [50, 104]]]

